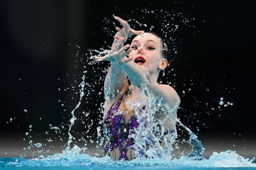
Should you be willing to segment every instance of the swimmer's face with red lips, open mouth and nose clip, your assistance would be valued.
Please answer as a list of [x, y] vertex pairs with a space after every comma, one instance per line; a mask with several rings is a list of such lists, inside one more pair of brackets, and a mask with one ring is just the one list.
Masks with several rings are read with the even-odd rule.
[[130, 48], [133, 50], [129, 53], [129, 58], [146, 67], [151, 74], [167, 66], [167, 60], [162, 56], [162, 42], [154, 34], [143, 33], [136, 36]]

